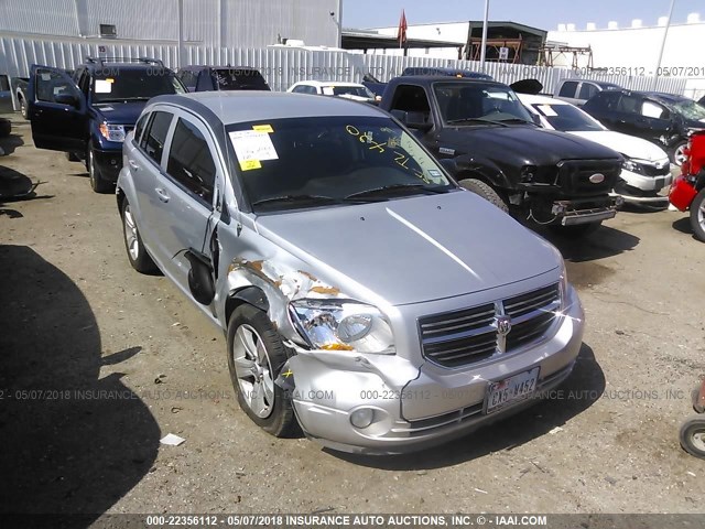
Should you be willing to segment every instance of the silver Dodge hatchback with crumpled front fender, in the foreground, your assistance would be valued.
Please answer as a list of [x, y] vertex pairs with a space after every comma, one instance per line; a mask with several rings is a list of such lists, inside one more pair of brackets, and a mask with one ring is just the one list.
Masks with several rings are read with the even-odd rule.
[[224, 331], [240, 407], [273, 435], [420, 450], [573, 368], [584, 315], [557, 250], [375, 107], [160, 96], [123, 156], [130, 263]]

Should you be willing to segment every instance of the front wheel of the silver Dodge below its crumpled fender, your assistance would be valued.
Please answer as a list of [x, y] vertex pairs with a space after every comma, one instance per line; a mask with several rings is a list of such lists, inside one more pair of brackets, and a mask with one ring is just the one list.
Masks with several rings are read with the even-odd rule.
[[238, 306], [228, 322], [228, 368], [238, 403], [265, 432], [289, 438], [299, 432], [290, 396], [274, 384], [286, 363], [284, 345], [267, 314]]

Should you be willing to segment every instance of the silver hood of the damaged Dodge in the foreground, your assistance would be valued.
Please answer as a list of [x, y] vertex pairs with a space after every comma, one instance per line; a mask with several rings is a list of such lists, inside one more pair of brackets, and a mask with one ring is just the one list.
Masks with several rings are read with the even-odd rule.
[[361, 301], [426, 302], [522, 281], [560, 266], [549, 242], [457, 191], [258, 217], [259, 233]]

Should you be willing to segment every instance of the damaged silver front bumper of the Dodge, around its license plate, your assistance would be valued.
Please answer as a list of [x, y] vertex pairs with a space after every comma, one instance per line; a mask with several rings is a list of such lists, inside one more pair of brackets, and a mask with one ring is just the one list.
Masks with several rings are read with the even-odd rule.
[[[395, 454], [426, 449], [506, 418], [535, 402], [572, 371], [583, 338], [584, 314], [570, 290], [550, 339], [491, 361], [446, 369], [400, 356], [295, 350], [278, 385], [292, 398], [304, 433], [337, 451]], [[488, 387], [539, 368], [535, 391], [486, 412]]]

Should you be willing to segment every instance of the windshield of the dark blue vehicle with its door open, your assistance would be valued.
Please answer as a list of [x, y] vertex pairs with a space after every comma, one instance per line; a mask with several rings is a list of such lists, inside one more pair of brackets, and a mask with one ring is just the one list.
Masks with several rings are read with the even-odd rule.
[[154, 96], [185, 93], [172, 72], [158, 68], [121, 68], [111, 75], [97, 75], [93, 84], [94, 102], [145, 101]]

